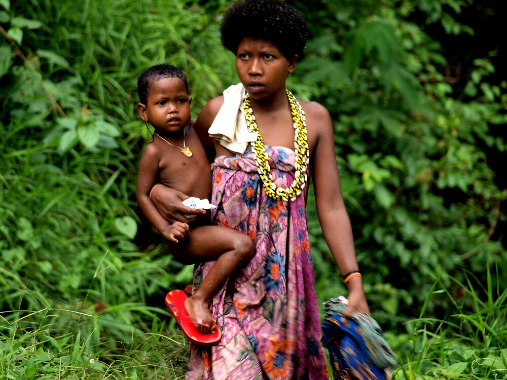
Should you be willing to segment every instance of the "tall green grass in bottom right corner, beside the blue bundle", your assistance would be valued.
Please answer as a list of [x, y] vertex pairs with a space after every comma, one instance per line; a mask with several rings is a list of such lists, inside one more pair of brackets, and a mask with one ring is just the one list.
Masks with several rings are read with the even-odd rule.
[[[493, 287], [489, 270], [486, 284], [469, 273], [465, 278], [465, 284], [453, 279], [458, 294], [439, 279], [434, 283], [420, 318], [411, 321], [413, 351], [401, 353], [406, 364], [395, 370], [394, 380], [507, 378], [507, 289]], [[442, 297], [454, 309], [444, 319], [425, 317], [430, 299]]]

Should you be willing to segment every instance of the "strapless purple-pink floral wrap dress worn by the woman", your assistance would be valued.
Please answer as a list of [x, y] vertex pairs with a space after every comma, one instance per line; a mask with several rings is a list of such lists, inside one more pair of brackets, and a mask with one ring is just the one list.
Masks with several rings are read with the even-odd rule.
[[[266, 146], [279, 187], [294, 180], [294, 151]], [[306, 224], [305, 197], [266, 196], [251, 150], [219, 157], [213, 167], [214, 224], [256, 241], [251, 261], [212, 299], [222, 341], [191, 347], [187, 379], [329, 380]], [[214, 262], [201, 264], [194, 287]]]

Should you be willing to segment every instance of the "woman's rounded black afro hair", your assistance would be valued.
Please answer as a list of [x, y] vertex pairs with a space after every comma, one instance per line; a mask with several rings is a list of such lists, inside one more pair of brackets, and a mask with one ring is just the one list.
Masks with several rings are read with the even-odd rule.
[[246, 0], [227, 11], [220, 29], [222, 44], [231, 52], [238, 52], [243, 37], [271, 41], [285, 58], [298, 54], [308, 39], [308, 25], [300, 14], [279, 0]]

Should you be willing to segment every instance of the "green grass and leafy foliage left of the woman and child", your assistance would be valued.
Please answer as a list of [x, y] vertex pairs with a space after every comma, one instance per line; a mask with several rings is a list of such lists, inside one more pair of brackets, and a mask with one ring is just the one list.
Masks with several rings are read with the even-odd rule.
[[137, 234], [136, 81], [169, 61], [195, 104], [218, 94], [214, 67], [233, 66], [217, 62], [214, 17], [197, 3], [0, 3], [0, 344], [14, 348], [0, 377], [184, 377], [163, 294], [191, 268]]

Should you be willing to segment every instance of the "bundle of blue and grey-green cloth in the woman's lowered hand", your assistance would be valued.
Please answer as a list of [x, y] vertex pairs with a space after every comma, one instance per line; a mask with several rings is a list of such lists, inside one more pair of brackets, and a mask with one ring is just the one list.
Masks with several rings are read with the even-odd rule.
[[324, 302], [322, 341], [328, 348], [335, 380], [388, 380], [396, 359], [378, 323], [367, 314], [342, 317], [346, 305], [338, 298]]

